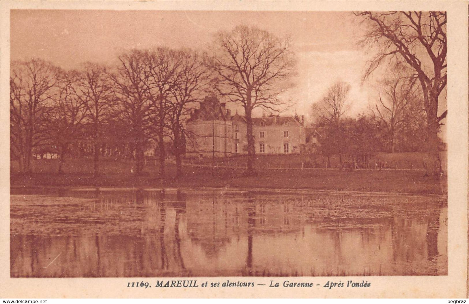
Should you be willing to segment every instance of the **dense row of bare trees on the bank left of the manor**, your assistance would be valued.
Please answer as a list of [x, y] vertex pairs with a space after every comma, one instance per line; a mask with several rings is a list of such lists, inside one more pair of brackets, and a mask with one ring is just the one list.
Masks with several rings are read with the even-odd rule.
[[72, 149], [90, 142], [96, 175], [100, 147], [113, 137], [114, 144], [130, 147], [141, 174], [145, 149], [155, 141], [164, 174], [170, 138], [180, 174], [184, 120], [210, 81], [199, 56], [190, 50], [136, 50], [119, 56], [113, 69], [86, 63], [72, 71], [40, 59], [12, 63], [12, 156], [29, 172], [34, 152], [55, 152], [61, 172]]

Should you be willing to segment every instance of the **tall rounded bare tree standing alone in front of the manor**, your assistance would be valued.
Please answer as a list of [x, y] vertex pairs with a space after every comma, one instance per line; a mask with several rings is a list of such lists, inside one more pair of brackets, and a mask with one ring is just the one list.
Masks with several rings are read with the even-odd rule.
[[264, 108], [279, 111], [281, 81], [295, 72], [295, 56], [289, 39], [280, 39], [256, 27], [237, 26], [219, 31], [214, 43], [215, 56], [210, 66], [217, 74], [222, 95], [240, 103], [246, 115], [248, 161], [247, 175], [254, 175], [255, 146], [252, 111]]

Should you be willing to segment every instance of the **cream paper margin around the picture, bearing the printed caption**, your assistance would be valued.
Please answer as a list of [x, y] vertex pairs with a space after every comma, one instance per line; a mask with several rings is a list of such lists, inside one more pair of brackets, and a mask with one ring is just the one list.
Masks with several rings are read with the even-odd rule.
[[[271, 278], [207, 277], [201, 282], [246, 281], [254, 288], [127, 288], [137, 278], [10, 278], [9, 268], [9, 21], [10, 9], [106, 10], [266, 10], [266, 11], [447, 11], [448, 71], [448, 275], [272, 278], [275, 282], [314, 282], [321, 287], [270, 288]], [[83, 20], [83, 22], [86, 22]], [[0, 297], [439, 297], [464, 298], [468, 261], [468, 2], [467, 1], [3, 1], [0, 2]], [[329, 280], [368, 280], [369, 288], [322, 286]], [[157, 278], [139, 278], [156, 283]], [[164, 278], [158, 278], [164, 280]], [[167, 278], [174, 279], [174, 278]]]

